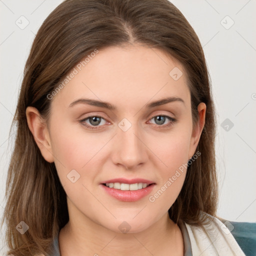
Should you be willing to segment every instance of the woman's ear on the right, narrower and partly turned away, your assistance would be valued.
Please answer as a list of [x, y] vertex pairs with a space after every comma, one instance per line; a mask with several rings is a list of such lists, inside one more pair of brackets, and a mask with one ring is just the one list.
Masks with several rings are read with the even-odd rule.
[[202, 132], [202, 129], [203, 129], [203, 126], [205, 123], [205, 112], [206, 112], [205, 103], [200, 102], [200, 104], [198, 104], [198, 106], [197, 106], [197, 110], [198, 110], [199, 120], [195, 124], [195, 127], [192, 131], [192, 136], [190, 139], [189, 154], [188, 154], [189, 159], [193, 156], [193, 154], [195, 152], [195, 149], [199, 143], [201, 132]]

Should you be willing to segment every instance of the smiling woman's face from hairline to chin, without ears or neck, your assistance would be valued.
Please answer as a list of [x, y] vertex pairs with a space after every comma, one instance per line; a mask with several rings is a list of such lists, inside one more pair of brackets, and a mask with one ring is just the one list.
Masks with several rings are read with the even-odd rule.
[[[142, 231], [175, 201], [186, 173], [177, 170], [198, 142], [185, 71], [138, 45], [99, 50], [79, 67], [51, 99], [48, 122], [69, 212], [113, 231], [123, 221], [129, 232]], [[178, 79], [173, 68], [177, 77], [182, 71]], [[179, 99], [151, 104], [171, 97]]]

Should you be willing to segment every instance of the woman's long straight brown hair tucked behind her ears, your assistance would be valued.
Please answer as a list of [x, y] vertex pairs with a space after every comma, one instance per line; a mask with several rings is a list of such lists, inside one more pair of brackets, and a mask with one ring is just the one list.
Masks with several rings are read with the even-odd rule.
[[[47, 120], [47, 95], [77, 62], [95, 49], [139, 43], [164, 50], [183, 66], [190, 90], [193, 126], [197, 105], [206, 104], [205, 125], [187, 167], [184, 185], [169, 209], [174, 222], [206, 223], [202, 212], [215, 216], [215, 110], [203, 50], [182, 13], [168, 0], [65, 0], [44, 20], [28, 59], [12, 127], [17, 125], [5, 196], [8, 255], [47, 254], [52, 238], [68, 221], [66, 194], [54, 163], [44, 160], [28, 128], [27, 106]], [[16, 225], [29, 229], [22, 235]], [[3, 221], [2, 221], [3, 223]]]

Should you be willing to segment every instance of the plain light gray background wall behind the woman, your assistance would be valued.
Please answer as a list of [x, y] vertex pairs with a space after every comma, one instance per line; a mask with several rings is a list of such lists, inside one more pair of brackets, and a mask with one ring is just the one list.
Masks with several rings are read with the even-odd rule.
[[[25, 60], [39, 26], [60, 2], [0, 0], [0, 216], [13, 146], [10, 139], [8, 146], [8, 133]], [[228, 220], [256, 221], [256, 0], [171, 2], [197, 33], [211, 76], [218, 113], [216, 160], [220, 197], [217, 213]], [[24, 29], [15, 23], [21, 15], [29, 21]], [[232, 20], [227, 15], [234, 21], [229, 29], [226, 28]], [[223, 123], [226, 118], [234, 124], [229, 125], [228, 130]], [[3, 239], [2, 231], [0, 237]], [[1, 239], [0, 255], [4, 255]]]

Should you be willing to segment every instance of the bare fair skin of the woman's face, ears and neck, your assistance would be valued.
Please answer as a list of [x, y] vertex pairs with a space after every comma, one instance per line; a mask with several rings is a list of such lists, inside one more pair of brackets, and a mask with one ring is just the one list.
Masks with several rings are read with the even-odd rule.
[[[178, 67], [183, 75], [174, 80], [169, 72]], [[145, 104], [176, 96], [153, 108]], [[78, 98], [109, 102], [116, 110], [80, 103]], [[204, 125], [206, 105], [197, 107], [199, 121], [192, 129], [190, 93], [182, 66], [159, 49], [142, 45], [107, 47], [99, 52], [51, 99], [48, 123], [36, 108], [27, 107], [29, 129], [48, 162], [56, 165], [67, 194], [68, 223], [60, 230], [59, 248], [66, 255], [183, 255], [179, 227], [168, 217], [186, 170], [158, 197], [148, 197], [172, 177], [195, 153]], [[98, 129], [79, 120], [102, 116]], [[156, 118], [167, 115], [163, 127]], [[127, 131], [118, 123], [126, 118]], [[89, 119], [83, 121], [90, 126]], [[72, 183], [67, 174], [75, 169], [80, 178]], [[145, 178], [156, 183], [153, 191], [134, 202], [108, 195], [104, 180]], [[130, 230], [118, 226], [126, 221]], [[97, 254], [96, 254], [97, 253]]]

